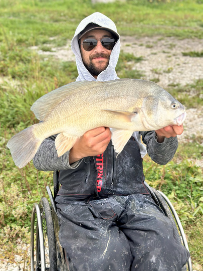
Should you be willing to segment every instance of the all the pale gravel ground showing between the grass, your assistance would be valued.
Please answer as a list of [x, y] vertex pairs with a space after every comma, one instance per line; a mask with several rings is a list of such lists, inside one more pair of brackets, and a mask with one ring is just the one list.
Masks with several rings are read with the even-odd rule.
[[[70, 41], [67, 46], [52, 48], [52, 52], [43, 52], [38, 47], [32, 47], [39, 54], [53, 55], [62, 61], [74, 61], [74, 55], [70, 49]], [[177, 40], [174, 37], [153, 37], [139, 38], [121, 37], [121, 49], [124, 52], [133, 53], [136, 57], [142, 56], [143, 61], [136, 63], [134, 69], [142, 70], [145, 74], [143, 79], [159, 79], [158, 84], [167, 90], [169, 84], [186, 85], [194, 80], [203, 78], [203, 59], [182, 56], [182, 52], [202, 51], [203, 40]], [[188, 141], [193, 134], [195, 137], [203, 134], [203, 103], [200, 108], [190, 108], [187, 110], [187, 118], [184, 124], [184, 132], [179, 137], [179, 141]], [[203, 144], [203, 143], [202, 143]], [[203, 160], [195, 163], [203, 167]], [[22, 255], [26, 255], [26, 260]], [[29, 270], [28, 258], [30, 257], [30, 247], [19, 240], [19, 255], [15, 255], [15, 263], [8, 260], [1, 262], [0, 271], [20, 271]], [[200, 271], [197, 264], [193, 266], [193, 271]]]

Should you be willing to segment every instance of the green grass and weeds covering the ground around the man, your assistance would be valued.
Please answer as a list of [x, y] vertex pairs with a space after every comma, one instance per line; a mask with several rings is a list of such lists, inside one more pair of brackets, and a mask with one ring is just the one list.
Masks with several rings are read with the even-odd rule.
[[[92, 5], [90, 0], [2, 0], [0, 9], [0, 258], [13, 262], [15, 254], [23, 253], [18, 248], [18, 238], [29, 242], [32, 205], [47, 196], [45, 187], [52, 185], [52, 173], [38, 172], [32, 163], [18, 169], [6, 144], [13, 134], [37, 122], [30, 110], [35, 100], [77, 77], [75, 62], [45, 58], [30, 47], [48, 52], [52, 47], [66, 45], [81, 19], [96, 11], [114, 20], [123, 36], [202, 39], [203, 1], [127, 0]], [[170, 44], [167, 50], [173, 46]], [[202, 52], [196, 51], [183, 54], [202, 57]], [[144, 76], [132, 69], [134, 63], [143, 60], [121, 51], [118, 76]], [[164, 72], [169, 73], [172, 68]], [[202, 79], [184, 87], [171, 85], [168, 91], [187, 108], [202, 105]], [[147, 182], [161, 189], [174, 204], [189, 240], [192, 261], [200, 266], [203, 172], [192, 159], [202, 159], [202, 136], [188, 142], [186, 146], [179, 145], [174, 159], [165, 166], [146, 157], [144, 169]]]

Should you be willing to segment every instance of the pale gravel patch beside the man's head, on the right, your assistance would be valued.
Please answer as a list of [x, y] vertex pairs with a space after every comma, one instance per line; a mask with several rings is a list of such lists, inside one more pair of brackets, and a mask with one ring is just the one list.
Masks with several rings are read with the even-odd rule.
[[133, 37], [122, 37], [121, 44], [124, 52], [144, 58], [135, 68], [143, 70], [146, 80], [158, 78], [158, 84], [163, 88], [169, 84], [186, 85], [203, 78], [202, 58], [182, 55], [183, 52], [201, 52], [203, 40], [177, 40], [174, 37], [135, 40]]

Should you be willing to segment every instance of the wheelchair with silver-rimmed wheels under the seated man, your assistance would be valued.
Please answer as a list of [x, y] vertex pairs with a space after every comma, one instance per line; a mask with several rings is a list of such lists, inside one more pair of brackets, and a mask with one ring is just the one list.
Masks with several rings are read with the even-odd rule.
[[[69, 271], [65, 251], [59, 241], [60, 221], [57, 214], [55, 198], [59, 191], [59, 171], [54, 171], [53, 193], [47, 187], [49, 201], [43, 197], [35, 203], [31, 217], [31, 271]], [[169, 199], [161, 191], [150, 187], [146, 182], [153, 200], [172, 221], [176, 236], [189, 251], [187, 240], [178, 215]], [[54, 194], [54, 195], [53, 195]], [[191, 258], [187, 261], [187, 270], [192, 271]], [[186, 270], [186, 267], [185, 267]]]

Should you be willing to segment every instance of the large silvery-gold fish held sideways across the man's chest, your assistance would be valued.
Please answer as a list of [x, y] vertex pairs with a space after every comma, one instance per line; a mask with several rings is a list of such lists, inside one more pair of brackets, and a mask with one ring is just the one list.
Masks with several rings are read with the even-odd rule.
[[58, 134], [55, 146], [62, 156], [86, 131], [112, 127], [112, 143], [120, 153], [133, 131], [180, 125], [186, 116], [184, 106], [167, 91], [141, 79], [73, 82], [45, 94], [31, 110], [41, 122], [17, 133], [7, 144], [19, 168], [53, 134]]

